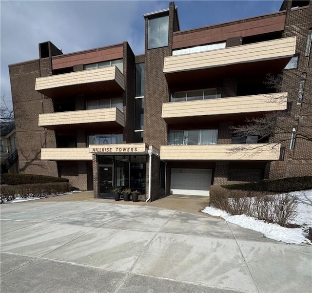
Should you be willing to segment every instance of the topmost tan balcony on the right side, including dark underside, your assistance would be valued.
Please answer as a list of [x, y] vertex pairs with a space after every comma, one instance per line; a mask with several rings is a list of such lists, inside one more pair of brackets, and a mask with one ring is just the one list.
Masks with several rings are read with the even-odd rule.
[[[165, 57], [169, 84], [259, 73], [278, 73], [295, 54], [296, 37]], [[226, 70], [225, 68], [226, 67]]]

